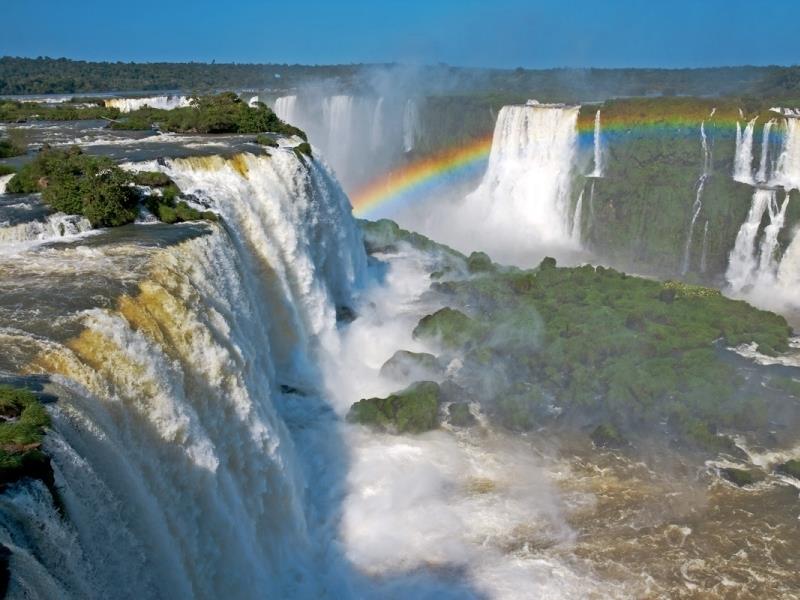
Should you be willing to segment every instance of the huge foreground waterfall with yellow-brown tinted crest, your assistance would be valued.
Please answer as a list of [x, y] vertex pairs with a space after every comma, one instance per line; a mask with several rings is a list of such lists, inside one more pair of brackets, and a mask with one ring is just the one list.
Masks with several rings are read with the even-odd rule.
[[145, 274], [74, 315], [68, 340], [62, 325], [0, 329], [4, 347], [35, 350], [20, 368], [63, 390], [45, 450], [68, 518], [39, 483], [0, 495], [12, 597], [342, 597], [279, 387], [321, 411], [314, 340], [366, 265], [347, 199], [290, 150], [161, 168], [221, 224], [166, 248], [52, 250], [38, 268], [118, 281], [142, 255]]

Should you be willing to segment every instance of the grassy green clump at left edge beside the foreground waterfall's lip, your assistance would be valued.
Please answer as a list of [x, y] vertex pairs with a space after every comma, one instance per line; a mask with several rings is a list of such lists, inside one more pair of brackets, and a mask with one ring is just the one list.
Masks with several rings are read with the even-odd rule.
[[23, 477], [53, 483], [50, 460], [42, 452], [50, 417], [28, 390], [0, 387], [0, 489]]

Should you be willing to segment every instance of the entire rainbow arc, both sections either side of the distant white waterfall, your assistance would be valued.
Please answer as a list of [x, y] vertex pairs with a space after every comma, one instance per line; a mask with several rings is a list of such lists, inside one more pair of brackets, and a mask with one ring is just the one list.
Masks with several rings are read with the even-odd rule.
[[[583, 116], [583, 115], [582, 115]], [[775, 115], [772, 115], [774, 117]], [[579, 144], [594, 143], [594, 110], [591, 119], [578, 124]], [[771, 118], [771, 117], [770, 117]], [[710, 119], [727, 135], [733, 135], [737, 120], [729, 116]], [[700, 121], [692, 117], [670, 116], [642, 119], [640, 115], [611, 115], [603, 119], [602, 137], [618, 135], [698, 135]], [[361, 218], [375, 219], [431, 197], [438, 188], [485, 171], [492, 148], [493, 134], [419, 158], [398, 169], [385, 173], [352, 194], [353, 212]], [[699, 142], [698, 142], [699, 143]]]

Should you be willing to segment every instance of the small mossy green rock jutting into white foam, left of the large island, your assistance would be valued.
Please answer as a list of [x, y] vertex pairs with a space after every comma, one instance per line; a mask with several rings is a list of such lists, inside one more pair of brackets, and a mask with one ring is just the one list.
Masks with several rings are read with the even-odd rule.
[[359, 400], [347, 420], [390, 433], [423, 433], [439, 427], [439, 402], [439, 384], [419, 381], [386, 398]]

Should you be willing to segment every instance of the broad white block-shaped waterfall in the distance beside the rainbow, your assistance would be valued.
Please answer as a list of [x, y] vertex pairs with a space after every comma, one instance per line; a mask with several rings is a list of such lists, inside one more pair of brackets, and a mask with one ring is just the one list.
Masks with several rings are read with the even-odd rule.
[[497, 117], [486, 174], [465, 199], [481, 235], [508, 248], [553, 243], [573, 247], [570, 181], [578, 108], [506, 106]]

